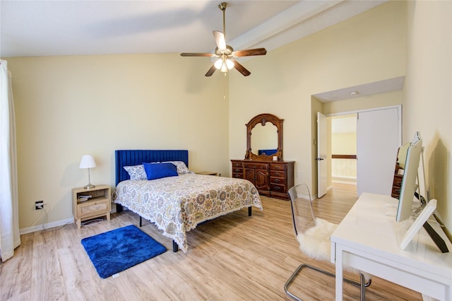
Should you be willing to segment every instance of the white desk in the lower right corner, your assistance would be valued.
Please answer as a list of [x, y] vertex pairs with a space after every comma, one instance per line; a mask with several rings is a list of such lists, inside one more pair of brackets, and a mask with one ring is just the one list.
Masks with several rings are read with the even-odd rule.
[[[412, 221], [396, 222], [391, 196], [364, 193], [331, 235], [331, 262], [336, 268], [336, 300], [343, 300], [343, 264], [405, 286], [438, 300], [452, 300], [451, 252], [441, 253], [421, 228], [405, 250], [400, 241]], [[434, 227], [434, 225], [432, 225]], [[446, 238], [444, 232], [441, 236]]]

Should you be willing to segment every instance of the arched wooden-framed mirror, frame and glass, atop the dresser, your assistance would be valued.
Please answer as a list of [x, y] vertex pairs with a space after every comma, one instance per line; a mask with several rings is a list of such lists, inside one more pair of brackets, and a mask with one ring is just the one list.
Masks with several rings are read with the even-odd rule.
[[283, 120], [259, 114], [246, 124], [246, 154], [250, 160], [283, 160]]

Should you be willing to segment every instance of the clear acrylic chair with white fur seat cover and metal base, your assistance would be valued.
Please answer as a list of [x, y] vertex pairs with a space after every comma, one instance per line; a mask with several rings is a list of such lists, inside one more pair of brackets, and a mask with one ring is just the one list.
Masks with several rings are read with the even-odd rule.
[[[290, 204], [292, 206], [292, 221], [295, 235], [299, 242], [299, 249], [311, 259], [330, 261], [330, 237], [338, 225], [330, 223], [328, 220], [316, 218], [314, 209], [312, 208], [311, 193], [309, 192], [307, 184], [299, 184], [292, 187], [289, 189], [289, 196]], [[334, 273], [324, 271], [321, 268], [309, 264], [300, 264], [284, 285], [285, 293], [295, 300], [301, 299], [293, 293], [290, 293], [288, 288], [304, 268], [309, 268], [313, 271], [335, 278]], [[357, 273], [359, 273], [360, 283], [351, 281], [347, 278], [344, 278], [344, 281], [359, 287], [361, 300], [364, 301], [365, 288], [371, 284], [371, 278], [369, 275], [361, 273], [360, 271], [357, 271]]]

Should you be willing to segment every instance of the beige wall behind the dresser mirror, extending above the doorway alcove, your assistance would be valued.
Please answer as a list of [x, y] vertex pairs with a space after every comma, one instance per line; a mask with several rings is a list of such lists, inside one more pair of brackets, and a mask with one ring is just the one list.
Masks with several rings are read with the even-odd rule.
[[296, 162], [295, 184], [316, 194], [313, 128], [317, 110], [330, 112], [311, 95], [404, 76], [405, 16], [406, 3], [390, 1], [246, 61], [251, 76], [230, 77], [230, 157], [244, 158], [249, 119], [275, 114], [285, 119], [284, 158]]

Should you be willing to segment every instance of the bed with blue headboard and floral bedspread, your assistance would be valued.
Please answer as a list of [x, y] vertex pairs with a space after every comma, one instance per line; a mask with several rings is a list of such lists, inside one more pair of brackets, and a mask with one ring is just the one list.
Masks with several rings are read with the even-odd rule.
[[[187, 251], [186, 232], [200, 223], [242, 208], [248, 208], [249, 216], [252, 206], [262, 210], [260, 196], [251, 182], [196, 175], [188, 169], [186, 150], [119, 150], [115, 151], [115, 160], [114, 203], [137, 213], [140, 225], [141, 218], [154, 223], [163, 235], [173, 240], [174, 252]], [[177, 167], [177, 176], [143, 178], [142, 165], [154, 169], [169, 162]], [[136, 170], [141, 175], [134, 173]]]

